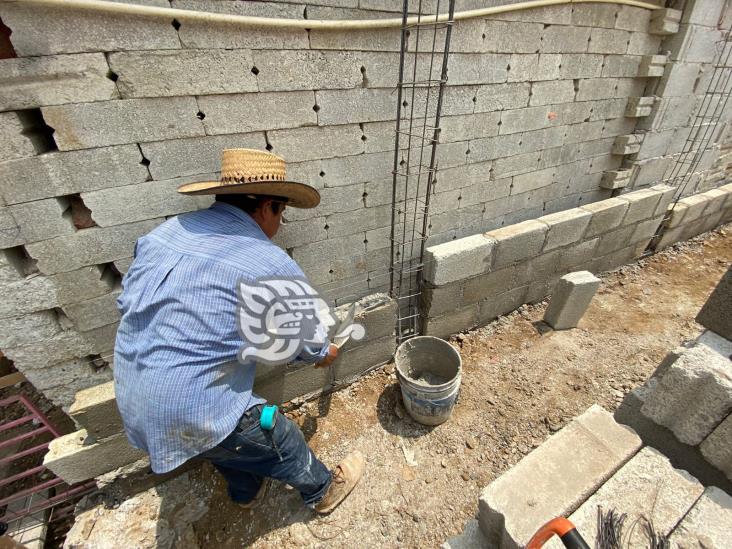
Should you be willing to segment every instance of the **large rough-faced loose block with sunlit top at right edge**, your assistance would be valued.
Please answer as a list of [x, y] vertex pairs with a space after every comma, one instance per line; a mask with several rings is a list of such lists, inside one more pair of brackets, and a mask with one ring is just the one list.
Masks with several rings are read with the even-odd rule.
[[732, 411], [730, 359], [704, 344], [669, 366], [641, 408], [644, 416], [696, 446]]

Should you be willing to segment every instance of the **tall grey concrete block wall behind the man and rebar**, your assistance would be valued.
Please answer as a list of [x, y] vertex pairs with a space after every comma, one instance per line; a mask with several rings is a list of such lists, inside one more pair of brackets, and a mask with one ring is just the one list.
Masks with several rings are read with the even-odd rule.
[[[400, 9], [140, 3], [296, 19]], [[658, 143], [685, 131], [718, 22], [729, 25], [722, 0], [697, 4], [683, 18], [594, 3], [456, 23], [429, 243], [658, 183], [674, 154]], [[314, 284], [337, 303], [385, 289], [398, 29], [263, 30], [17, 3], [0, 18], [17, 54], [0, 61], [0, 349], [56, 402], [110, 379], [134, 243], [210, 203], [175, 189], [216, 178], [225, 147], [271, 150], [320, 190], [321, 205], [289, 209], [277, 237]]]

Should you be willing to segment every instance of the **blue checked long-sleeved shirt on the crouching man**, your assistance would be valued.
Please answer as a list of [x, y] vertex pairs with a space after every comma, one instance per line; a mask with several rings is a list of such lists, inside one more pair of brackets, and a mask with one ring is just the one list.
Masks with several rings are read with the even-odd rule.
[[[252, 394], [255, 363], [239, 363], [237, 283], [304, 277], [246, 212], [222, 202], [140, 238], [117, 300], [117, 405], [133, 446], [165, 473], [216, 446]], [[328, 351], [305, 348], [300, 360]]]

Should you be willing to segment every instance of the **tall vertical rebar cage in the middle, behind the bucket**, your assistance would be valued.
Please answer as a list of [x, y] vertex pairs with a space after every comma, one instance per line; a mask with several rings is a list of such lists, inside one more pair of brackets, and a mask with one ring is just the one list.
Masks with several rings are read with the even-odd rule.
[[[421, 333], [424, 250], [437, 172], [440, 114], [447, 83], [455, 0], [447, 13], [423, 13], [431, 0], [404, 0], [397, 84], [391, 213], [390, 294], [398, 304], [397, 340]], [[411, 15], [411, 17], [410, 17]]]

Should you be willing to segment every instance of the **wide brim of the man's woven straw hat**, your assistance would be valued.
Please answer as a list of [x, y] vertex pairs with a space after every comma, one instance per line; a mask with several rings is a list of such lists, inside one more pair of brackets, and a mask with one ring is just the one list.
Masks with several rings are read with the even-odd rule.
[[178, 187], [182, 194], [268, 194], [287, 198], [294, 208], [315, 208], [320, 204], [320, 193], [314, 187], [297, 181], [262, 181], [261, 183], [223, 184], [220, 181], [186, 183]]

